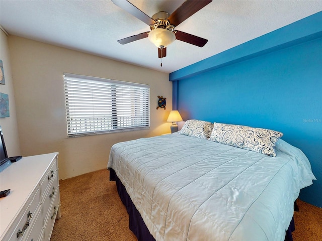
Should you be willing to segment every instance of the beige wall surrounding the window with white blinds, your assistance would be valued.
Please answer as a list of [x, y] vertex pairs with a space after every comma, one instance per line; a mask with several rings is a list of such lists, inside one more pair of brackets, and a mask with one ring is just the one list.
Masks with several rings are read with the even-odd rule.
[[[59, 152], [60, 179], [106, 168], [117, 142], [170, 131], [168, 74], [17, 36], [9, 36], [9, 48], [22, 155]], [[149, 84], [150, 129], [67, 138], [64, 72]], [[156, 110], [157, 95], [167, 97], [167, 110]]]

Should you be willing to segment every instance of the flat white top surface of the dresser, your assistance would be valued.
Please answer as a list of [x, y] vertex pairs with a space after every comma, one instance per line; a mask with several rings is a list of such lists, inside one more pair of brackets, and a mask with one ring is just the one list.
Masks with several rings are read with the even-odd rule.
[[0, 173], [0, 190], [11, 189], [7, 197], [0, 198], [0, 237], [20, 213], [57, 155], [55, 152], [23, 157]]

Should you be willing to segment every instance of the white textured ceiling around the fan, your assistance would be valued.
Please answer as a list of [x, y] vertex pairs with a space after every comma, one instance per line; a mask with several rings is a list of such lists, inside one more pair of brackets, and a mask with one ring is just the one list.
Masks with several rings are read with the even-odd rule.
[[[130, 0], [148, 16], [174, 12], [184, 1]], [[322, 11], [322, 1], [213, 1], [176, 27], [205, 39], [197, 47], [176, 40], [160, 59], [148, 38], [117, 40], [149, 27], [106, 1], [0, 0], [0, 25], [17, 35], [69, 49], [171, 73], [241, 43]]]

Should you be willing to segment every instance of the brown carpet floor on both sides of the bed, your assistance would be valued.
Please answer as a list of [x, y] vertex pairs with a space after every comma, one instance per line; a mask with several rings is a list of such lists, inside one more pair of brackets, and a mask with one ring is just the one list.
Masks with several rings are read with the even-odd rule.
[[[132, 241], [128, 214], [109, 181], [109, 171], [100, 170], [62, 180], [61, 218], [56, 220], [51, 241]], [[298, 201], [294, 241], [322, 240], [322, 208]]]

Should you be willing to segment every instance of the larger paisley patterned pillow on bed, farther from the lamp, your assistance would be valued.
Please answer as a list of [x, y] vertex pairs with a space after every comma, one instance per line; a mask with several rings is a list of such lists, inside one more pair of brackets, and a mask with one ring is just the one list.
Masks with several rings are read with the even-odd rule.
[[275, 157], [275, 143], [282, 136], [268, 129], [215, 123], [209, 140]]

